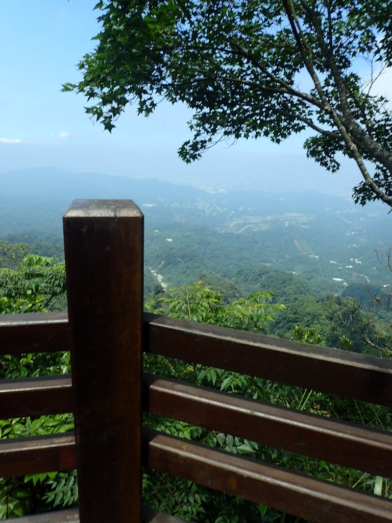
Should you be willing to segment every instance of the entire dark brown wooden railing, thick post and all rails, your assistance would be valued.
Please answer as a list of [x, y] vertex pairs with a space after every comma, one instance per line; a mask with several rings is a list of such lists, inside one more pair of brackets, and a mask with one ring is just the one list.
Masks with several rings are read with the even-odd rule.
[[[392, 477], [392, 435], [152, 374], [142, 353], [392, 406], [392, 362], [142, 314], [143, 218], [130, 202], [64, 217], [68, 314], [0, 316], [0, 354], [71, 349], [67, 376], [3, 380], [0, 419], [74, 412], [73, 434], [0, 442], [0, 477], [77, 468], [79, 511], [25, 523], [179, 520], [142, 508], [141, 465], [320, 523], [392, 521], [392, 502], [142, 429], [142, 411]], [[17, 520], [15, 520], [17, 521]]]

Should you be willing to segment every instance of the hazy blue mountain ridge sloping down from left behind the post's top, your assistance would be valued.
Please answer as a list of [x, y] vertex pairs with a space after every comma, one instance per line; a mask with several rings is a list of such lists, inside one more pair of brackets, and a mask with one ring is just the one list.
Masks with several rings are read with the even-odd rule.
[[139, 206], [159, 198], [186, 199], [199, 189], [165, 181], [42, 167], [0, 173], [0, 237], [26, 230], [60, 232], [62, 215], [79, 198], [129, 198]]

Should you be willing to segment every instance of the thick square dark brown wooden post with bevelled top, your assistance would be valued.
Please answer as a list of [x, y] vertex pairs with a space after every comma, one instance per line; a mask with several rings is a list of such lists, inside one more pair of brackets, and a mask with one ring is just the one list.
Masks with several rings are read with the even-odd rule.
[[143, 214], [75, 200], [63, 225], [80, 523], [140, 523]]

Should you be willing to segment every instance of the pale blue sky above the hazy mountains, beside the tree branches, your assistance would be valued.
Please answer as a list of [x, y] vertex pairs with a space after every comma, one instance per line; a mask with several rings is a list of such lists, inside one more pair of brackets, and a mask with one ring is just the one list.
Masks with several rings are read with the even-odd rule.
[[[77, 62], [93, 49], [97, 0], [12, 0], [0, 17], [0, 172], [54, 166], [73, 172], [151, 177], [202, 187], [287, 190], [308, 187], [348, 196], [359, 182], [355, 166], [325, 173], [306, 159], [302, 137], [220, 144], [187, 166], [177, 149], [189, 137], [190, 113], [161, 104], [149, 118], [130, 108], [112, 134], [85, 115], [82, 95], [62, 93], [78, 80]], [[387, 89], [388, 78], [381, 85]]]

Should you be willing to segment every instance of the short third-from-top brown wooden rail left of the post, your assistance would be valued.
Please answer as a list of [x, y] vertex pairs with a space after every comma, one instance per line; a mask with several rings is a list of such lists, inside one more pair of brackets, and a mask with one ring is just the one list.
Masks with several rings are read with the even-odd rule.
[[72, 470], [75, 467], [73, 433], [0, 441], [0, 477]]

